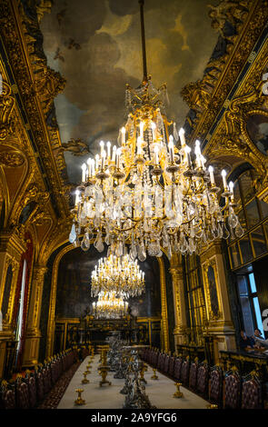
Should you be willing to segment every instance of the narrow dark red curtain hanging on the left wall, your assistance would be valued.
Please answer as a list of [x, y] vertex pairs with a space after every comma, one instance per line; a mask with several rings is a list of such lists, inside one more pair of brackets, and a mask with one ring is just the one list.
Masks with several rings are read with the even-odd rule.
[[26, 329], [26, 318], [27, 318], [27, 306], [28, 306], [28, 300], [29, 300], [30, 276], [31, 276], [33, 253], [34, 253], [33, 241], [30, 233], [25, 233], [25, 240], [27, 243], [27, 248], [25, 253], [23, 253], [21, 262], [20, 262], [18, 279], [16, 284], [16, 292], [15, 292], [15, 311], [13, 316], [14, 326], [16, 327], [17, 316], [19, 313], [19, 306], [20, 306], [19, 301], [20, 301], [20, 294], [22, 289], [24, 263], [26, 261], [25, 298], [24, 298], [23, 322], [22, 322], [22, 331], [21, 331], [21, 346], [18, 353], [18, 357], [17, 357], [17, 363], [16, 363], [17, 371], [21, 369], [22, 362], [23, 362], [23, 354], [25, 350], [25, 329]]

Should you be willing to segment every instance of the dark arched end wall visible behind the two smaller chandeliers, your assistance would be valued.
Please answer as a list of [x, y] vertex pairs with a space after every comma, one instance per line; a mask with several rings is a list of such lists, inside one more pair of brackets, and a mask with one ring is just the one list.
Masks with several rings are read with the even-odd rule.
[[[80, 318], [92, 312], [90, 283], [91, 274], [100, 258], [106, 256], [98, 253], [91, 245], [88, 252], [75, 248], [65, 253], [59, 263], [55, 315], [58, 319]], [[136, 317], [161, 317], [160, 272], [157, 258], [147, 257], [144, 263], [138, 262], [145, 276], [145, 293], [130, 298], [129, 307]]]

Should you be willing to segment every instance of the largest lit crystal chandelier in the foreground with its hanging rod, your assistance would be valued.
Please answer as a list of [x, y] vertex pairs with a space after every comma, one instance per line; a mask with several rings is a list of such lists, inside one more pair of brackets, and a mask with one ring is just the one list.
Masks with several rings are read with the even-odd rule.
[[213, 167], [206, 167], [200, 142], [194, 155], [185, 143], [184, 129], [164, 114], [165, 84], [156, 89], [147, 77], [143, 2], [141, 24], [144, 80], [126, 88], [128, 118], [119, 134], [119, 146], [100, 142], [100, 154], [82, 166], [82, 183], [76, 189], [70, 242], [88, 250], [94, 246], [108, 255], [123, 256], [127, 246], [134, 260], [146, 253], [199, 253], [201, 247], [230, 233], [243, 234], [234, 214], [233, 184], [223, 171], [224, 204], [215, 185]]

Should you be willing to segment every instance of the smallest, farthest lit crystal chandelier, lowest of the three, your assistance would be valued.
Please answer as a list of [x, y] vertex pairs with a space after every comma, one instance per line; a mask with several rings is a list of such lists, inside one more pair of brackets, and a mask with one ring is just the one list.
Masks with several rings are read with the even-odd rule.
[[116, 298], [115, 292], [101, 292], [98, 301], [92, 303], [96, 319], [120, 319], [127, 314], [128, 303], [124, 301], [125, 295]]

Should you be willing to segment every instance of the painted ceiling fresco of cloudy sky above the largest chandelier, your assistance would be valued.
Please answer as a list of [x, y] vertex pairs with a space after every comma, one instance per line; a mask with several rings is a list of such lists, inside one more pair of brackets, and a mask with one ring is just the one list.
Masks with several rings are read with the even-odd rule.
[[[207, 0], [145, 1], [148, 74], [155, 86], [167, 83], [167, 114], [178, 127], [188, 111], [180, 91], [203, 77], [217, 41], [208, 12]], [[58, 0], [41, 30], [48, 65], [67, 81], [55, 99], [62, 143], [80, 139], [96, 154], [100, 140], [116, 143], [124, 124], [125, 84], [143, 77], [138, 1]], [[65, 152], [70, 182], [79, 182], [88, 155]]]

